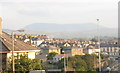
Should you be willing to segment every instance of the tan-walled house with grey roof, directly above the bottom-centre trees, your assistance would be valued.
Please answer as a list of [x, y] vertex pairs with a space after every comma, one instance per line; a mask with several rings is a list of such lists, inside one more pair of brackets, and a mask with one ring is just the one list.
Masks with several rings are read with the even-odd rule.
[[67, 47], [67, 48], [64, 48], [63, 51], [67, 54], [71, 54], [72, 56], [75, 56], [75, 55], [84, 55], [83, 53], [83, 48], [81, 47]]

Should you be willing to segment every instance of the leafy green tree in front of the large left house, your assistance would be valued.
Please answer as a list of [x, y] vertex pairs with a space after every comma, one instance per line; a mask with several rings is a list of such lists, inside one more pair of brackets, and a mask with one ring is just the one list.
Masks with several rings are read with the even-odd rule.
[[[19, 59], [15, 59], [15, 71], [27, 72], [31, 70], [42, 70], [44, 66], [40, 64], [39, 59], [29, 59], [27, 55], [20, 55]], [[10, 62], [9, 70], [12, 70], [12, 61]]]

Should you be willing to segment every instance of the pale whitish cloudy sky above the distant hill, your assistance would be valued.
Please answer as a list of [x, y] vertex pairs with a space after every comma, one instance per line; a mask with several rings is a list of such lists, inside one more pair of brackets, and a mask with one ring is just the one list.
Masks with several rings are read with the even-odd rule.
[[118, 27], [119, 0], [0, 0], [3, 29], [21, 29], [32, 23], [97, 23]]

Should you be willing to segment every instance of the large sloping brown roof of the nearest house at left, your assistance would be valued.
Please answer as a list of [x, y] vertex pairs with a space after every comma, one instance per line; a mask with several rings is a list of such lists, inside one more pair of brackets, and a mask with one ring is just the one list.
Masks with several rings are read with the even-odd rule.
[[[2, 44], [4, 44], [9, 51], [12, 51], [12, 37], [11, 37], [11, 35], [3, 32], [1, 41], [2, 41]], [[2, 47], [3, 47], [3, 45], [2, 45]], [[40, 49], [33, 47], [29, 44], [26, 44], [21, 40], [16, 39], [15, 44], [14, 44], [14, 51], [30, 51], [30, 50], [40, 50]], [[3, 51], [5, 51], [5, 50], [3, 50]]]

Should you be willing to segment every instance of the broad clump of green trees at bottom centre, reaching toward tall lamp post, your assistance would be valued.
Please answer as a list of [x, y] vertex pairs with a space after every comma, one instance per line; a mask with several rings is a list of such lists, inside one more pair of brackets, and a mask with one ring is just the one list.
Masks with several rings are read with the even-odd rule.
[[[66, 59], [67, 60], [67, 59]], [[68, 68], [73, 68], [76, 71], [95, 71], [94, 60], [97, 60], [97, 56], [92, 54], [86, 54], [84, 56], [73, 56], [68, 58]], [[60, 60], [58, 63], [58, 68], [64, 68], [64, 59]]]

